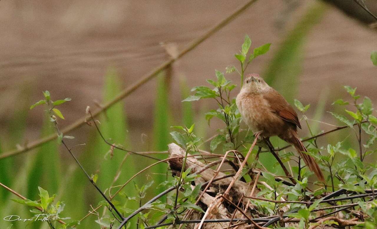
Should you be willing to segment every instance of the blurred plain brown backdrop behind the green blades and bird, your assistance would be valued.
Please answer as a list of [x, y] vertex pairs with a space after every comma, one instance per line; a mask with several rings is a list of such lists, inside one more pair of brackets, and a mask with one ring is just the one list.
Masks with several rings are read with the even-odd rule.
[[[62, 105], [62, 126], [84, 115], [87, 105], [102, 101], [104, 75], [114, 67], [126, 87], [169, 58], [161, 42], [178, 50], [204, 34], [246, 1], [1, 1], [0, 2], [0, 126], [5, 133], [14, 115], [41, 98], [48, 89]], [[368, 1], [367, 1], [368, 2]], [[241, 16], [173, 65], [171, 106], [179, 106], [178, 78], [190, 87], [205, 83], [214, 70], [236, 64], [245, 34], [253, 46], [271, 42], [271, 51], [257, 58], [250, 71], [261, 73], [280, 43], [314, 1], [257, 1]], [[329, 5], [306, 39], [304, 66], [297, 98], [316, 106], [328, 89], [326, 110], [345, 95], [342, 85], [357, 86], [377, 101], [376, 68], [369, 59], [377, 49], [375, 30]], [[238, 82], [236, 74], [230, 75]], [[289, 86], [289, 82], [286, 82]], [[156, 81], [127, 97], [130, 129], [152, 126]], [[236, 89], [237, 91], [237, 89]], [[198, 103], [195, 105], [198, 110]], [[172, 109], [173, 112], [175, 109]], [[178, 114], [179, 115], [179, 114]], [[329, 117], [327, 114], [325, 117]], [[29, 111], [27, 140], [37, 139], [42, 118]], [[4, 140], [4, 139], [2, 139]], [[8, 146], [7, 148], [14, 148]]]

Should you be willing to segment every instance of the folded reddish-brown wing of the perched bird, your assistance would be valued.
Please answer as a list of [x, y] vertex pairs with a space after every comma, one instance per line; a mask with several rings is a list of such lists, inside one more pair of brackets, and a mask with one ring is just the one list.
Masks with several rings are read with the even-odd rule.
[[282, 95], [276, 90], [272, 89], [264, 93], [263, 97], [270, 103], [271, 110], [279, 115], [285, 121], [295, 124], [301, 129], [301, 124], [299, 118], [297, 117], [296, 111], [291, 105], [285, 100]]

